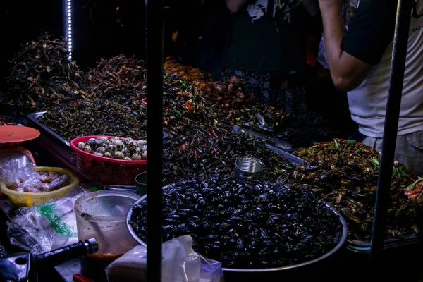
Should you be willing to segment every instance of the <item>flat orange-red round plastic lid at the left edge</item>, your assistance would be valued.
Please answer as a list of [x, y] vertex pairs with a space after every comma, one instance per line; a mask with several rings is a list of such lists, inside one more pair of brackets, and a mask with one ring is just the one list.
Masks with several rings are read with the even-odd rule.
[[0, 144], [20, 144], [37, 138], [39, 134], [38, 130], [27, 126], [2, 125], [0, 126]]

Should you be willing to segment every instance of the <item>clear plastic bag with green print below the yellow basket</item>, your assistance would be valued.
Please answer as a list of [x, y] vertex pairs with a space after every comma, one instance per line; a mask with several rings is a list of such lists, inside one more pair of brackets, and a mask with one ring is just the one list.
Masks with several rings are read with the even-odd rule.
[[16, 216], [6, 222], [11, 244], [38, 255], [77, 243], [73, 206], [78, 197], [88, 191], [85, 186], [80, 185], [63, 197], [18, 209]]

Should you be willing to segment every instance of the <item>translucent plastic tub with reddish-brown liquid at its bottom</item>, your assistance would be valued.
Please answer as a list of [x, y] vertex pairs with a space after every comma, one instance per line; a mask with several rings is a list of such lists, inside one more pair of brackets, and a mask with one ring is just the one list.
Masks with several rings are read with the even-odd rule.
[[94, 281], [106, 281], [104, 269], [137, 245], [126, 227], [126, 216], [140, 196], [131, 192], [91, 192], [75, 202], [78, 239], [95, 238], [99, 251], [81, 258], [82, 274]]

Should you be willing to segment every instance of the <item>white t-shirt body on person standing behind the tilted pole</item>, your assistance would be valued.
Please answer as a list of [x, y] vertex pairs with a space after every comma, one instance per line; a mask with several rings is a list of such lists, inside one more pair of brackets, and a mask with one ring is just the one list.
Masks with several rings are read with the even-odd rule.
[[[423, 15], [423, 0], [417, 0], [416, 11]], [[391, 42], [362, 84], [348, 92], [351, 117], [359, 125], [360, 133], [367, 137], [383, 137], [392, 47]], [[398, 135], [419, 130], [423, 130], [423, 16], [412, 16]]]

